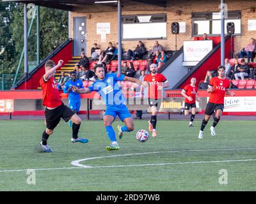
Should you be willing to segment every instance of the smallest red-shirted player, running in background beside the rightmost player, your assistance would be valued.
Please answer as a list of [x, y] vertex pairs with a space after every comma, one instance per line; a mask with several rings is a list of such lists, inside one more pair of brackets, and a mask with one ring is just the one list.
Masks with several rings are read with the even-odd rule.
[[180, 92], [182, 96], [185, 98], [184, 105], [184, 115], [189, 114], [189, 109], [191, 108], [191, 117], [189, 121], [189, 127], [193, 126], [193, 120], [195, 119], [196, 114], [196, 95], [197, 95], [197, 87], [196, 87], [196, 78], [193, 77], [190, 80], [191, 84], [186, 85], [184, 89]]

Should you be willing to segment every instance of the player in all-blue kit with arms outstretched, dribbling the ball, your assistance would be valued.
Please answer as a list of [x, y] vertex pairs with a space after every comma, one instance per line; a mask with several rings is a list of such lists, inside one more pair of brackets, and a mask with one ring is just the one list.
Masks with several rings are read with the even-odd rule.
[[141, 82], [140, 80], [132, 77], [126, 77], [125, 75], [118, 74], [105, 74], [104, 68], [97, 66], [95, 68], [95, 75], [98, 79], [85, 89], [77, 89], [73, 87], [73, 90], [79, 94], [88, 94], [92, 91], [97, 91], [104, 103], [106, 104], [106, 111], [104, 113], [104, 126], [106, 133], [108, 134], [111, 145], [107, 146], [107, 150], [120, 149], [116, 142], [115, 131], [112, 127], [116, 115], [124, 122], [124, 126], [118, 126], [118, 136], [121, 139], [124, 132], [130, 132], [134, 129], [133, 120], [127, 106], [125, 105], [126, 99], [122, 94], [118, 81], [129, 81], [136, 84], [146, 85], [147, 82]]

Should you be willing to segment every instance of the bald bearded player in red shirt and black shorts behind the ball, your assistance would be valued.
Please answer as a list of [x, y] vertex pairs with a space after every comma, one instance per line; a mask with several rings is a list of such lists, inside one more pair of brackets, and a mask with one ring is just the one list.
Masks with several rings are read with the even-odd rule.
[[[169, 82], [166, 80], [164, 75], [157, 73], [157, 66], [156, 64], [150, 64], [150, 71], [149, 75], [144, 77], [144, 81], [148, 82], [148, 104], [150, 106], [151, 112], [151, 119], [148, 121], [148, 129], [151, 132], [152, 136], [157, 136], [156, 132], [156, 117], [157, 117], [157, 106], [158, 108], [161, 105], [162, 99], [162, 89], [169, 87]], [[143, 87], [141, 87], [140, 92], [141, 97], [143, 96]]]

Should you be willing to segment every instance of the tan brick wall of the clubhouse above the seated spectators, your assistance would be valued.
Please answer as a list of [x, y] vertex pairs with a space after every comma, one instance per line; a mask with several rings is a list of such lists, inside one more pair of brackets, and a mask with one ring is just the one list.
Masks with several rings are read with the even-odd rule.
[[[256, 19], [256, 12], [250, 11], [251, 7], [256, 8], [256, 1], [254, 0], [226, 0], [228, 10], [241, 10], [241, 36], [236, 36], [234, 40], [235, 52], [245, 47], [250, 38], [256, 38], [256, 31], [248, 31], [248, 19]], [[181, 10], [181, 15], [175, 13], [176, 10]], [[163, 45], [165, 50], [175, 50], [175, 34], [171, 33], [172, 22], [186, 22], [186, 33], [177, 35], [177, 48], [183, 45], [184, 40], [193, 40], [191, 28], [191, 13], [200, 11], [219, 11], [218, 1], [180, 1], [175, 0], [168, 3], [166, 8], [158, 6], [151, 6], [147, 4], [125, 4], [122, 8], [122, 15], [136, 15], [136, 14], [156, 14], [166, 13], [167, 15], [167, 39], [158, 40]], [[86, 6], [79, 8], [77, 12], [71, 12], [70, 20], [70, 37], [73, 37], [73, 17], [86, 17], [87, 29], [87, 48], [86, 51], [90, 55], [90, 48], [93, 43], [98, 43], [103, 49], [108, 47], [108, 41], [115, 43], [117, 41], [117, 8], [106, 6]], [[107, 34], [106, 42], [101, 42], [100, 35], [96, 34], [97, 22], [110, 22], [111, 34]], [[147, 50], [151, 49], [155, 40], [145, 40]], [[124, 50], [136, 47], [138, 41], [122, 41]]]

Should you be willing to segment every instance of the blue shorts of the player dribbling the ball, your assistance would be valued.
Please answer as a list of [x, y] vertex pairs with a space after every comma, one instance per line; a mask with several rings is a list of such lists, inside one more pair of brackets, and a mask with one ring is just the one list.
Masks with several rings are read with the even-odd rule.
[[127, 106], [125, 106], [124, 104], [107, 106], [104, 115], [111, 115], [114, 117], [114, 119], [116, 118], [116, 115], [118, 115], [118, 117], [120, 118], [120, 120], [122, 120], [122, 122], [127, 117], [131, 117], [131, 114]]

